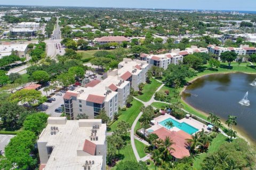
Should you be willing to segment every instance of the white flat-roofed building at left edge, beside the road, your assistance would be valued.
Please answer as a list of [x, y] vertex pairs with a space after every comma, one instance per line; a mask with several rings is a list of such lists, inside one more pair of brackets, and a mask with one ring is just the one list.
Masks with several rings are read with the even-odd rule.
[[25, 57], [28, 52], [28, 44], [10, 44], [0, 45], [0, 58], [11, 55], [12, 52], [19, 57]]

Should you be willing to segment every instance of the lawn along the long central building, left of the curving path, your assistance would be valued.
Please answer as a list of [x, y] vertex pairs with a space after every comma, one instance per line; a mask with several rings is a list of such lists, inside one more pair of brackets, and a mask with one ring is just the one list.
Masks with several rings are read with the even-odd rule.
[[110, 125], [109, 131], [114, 131], [117, 128], [117, 123], [120, 121], [125, 121], [132, 125], [135, 118], [140, 113], [140, 108], [141, 106], [143, 106], [143, 104], [140, 101], [135, 99], [133, 99], [131, 104], [132, 106], [130, 108], [127, 108], [126, 111], [120, 111], [122, 114], [118, 117], [117, 121], [115, 121], [113, 124]]

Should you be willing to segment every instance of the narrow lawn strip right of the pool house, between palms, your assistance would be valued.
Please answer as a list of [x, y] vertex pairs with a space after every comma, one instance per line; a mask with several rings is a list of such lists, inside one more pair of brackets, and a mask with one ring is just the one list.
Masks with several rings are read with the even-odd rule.
[[[212, 140], [212, 143], [208, 148], [207, 154], [217, 151], [221, 145], [227, 142], [225, 140], [226, 138], [227, 137], [225, 137], [223, 134], [218, 134], [217, 137]], [[201, 164], [203, 163], [203, 160], [207, 154], [204, 152], [203, 154], [198, 155], [198, 157], [195, 157], [193, 167], [196, 169], [201, 169]]]

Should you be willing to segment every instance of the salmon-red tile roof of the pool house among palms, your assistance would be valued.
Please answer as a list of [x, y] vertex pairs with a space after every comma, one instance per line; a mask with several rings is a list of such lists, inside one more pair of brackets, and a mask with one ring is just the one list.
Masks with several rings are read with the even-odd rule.
[[166, 137], [169, 137], [174, 144], [171, 146], [175, 150], [170, 150], [170, 154], [178, 159], [183, 157], [190, 156], [189, 150], [187, 149], [188, 143], [186, 139], [191, 139], [191, 135], [184, 131], [169, 131], [166, 128], [162, 127], [153, 133], [157, 134], [159, 139], [164, 140]]

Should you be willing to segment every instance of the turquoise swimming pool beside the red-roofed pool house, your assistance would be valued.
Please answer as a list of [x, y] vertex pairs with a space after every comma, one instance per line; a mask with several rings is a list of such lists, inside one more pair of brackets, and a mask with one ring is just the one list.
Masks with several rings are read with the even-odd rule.
[[173, 120], [172, 118], [167, 118], [166, 120], [160, 122], [159, 124], [164, 126], [166, 129], [169, 129], [169, 126], [165, 126], [165, 122], [168, 122], [168, 121], [171, 121], [176, 128], [179, 128], [180, 130], [185, 131], [188, 134], [193, 134], [198, 131], [198, 129], [194, 128], [193, 126], [190, 126], [185, 122], [179, 123]]

